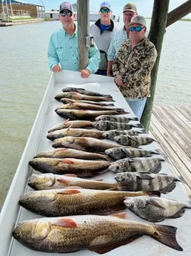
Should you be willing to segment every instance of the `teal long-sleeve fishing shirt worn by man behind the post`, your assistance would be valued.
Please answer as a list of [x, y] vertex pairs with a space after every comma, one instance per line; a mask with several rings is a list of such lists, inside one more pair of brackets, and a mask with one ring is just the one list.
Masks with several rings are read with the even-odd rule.
[[[64, 27], [56, 30], [50, 36], [48, 45], [47, 58], [50, 70], [58, 63], [63, 70], [77, 71], [78, 68], [78, 33], [77, 31], [70, 36]], [[98, 70], [100, 62], [100, 53], [98, 48], [88, 48], [88, 64], [87, 69], [90, 73]]]

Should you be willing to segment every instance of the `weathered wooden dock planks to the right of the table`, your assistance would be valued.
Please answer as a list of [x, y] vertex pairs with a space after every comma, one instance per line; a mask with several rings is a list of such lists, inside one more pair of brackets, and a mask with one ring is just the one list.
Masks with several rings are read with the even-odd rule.
[[184, 191], [191, 198], [190, 107], [154, 106], [150, 134], [170, 160], [169, 167], [186, 183]]

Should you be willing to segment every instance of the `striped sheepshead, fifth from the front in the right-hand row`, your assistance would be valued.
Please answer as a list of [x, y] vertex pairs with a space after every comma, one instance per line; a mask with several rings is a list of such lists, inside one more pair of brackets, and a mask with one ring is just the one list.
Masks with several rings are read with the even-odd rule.
[[139, 145], [148, 145], [155, 141], [151, 137], [130, 136], [124, 134], [114, 137], [114, 140], [121, 145], [129, 145], [132, 147], [138, 147]]

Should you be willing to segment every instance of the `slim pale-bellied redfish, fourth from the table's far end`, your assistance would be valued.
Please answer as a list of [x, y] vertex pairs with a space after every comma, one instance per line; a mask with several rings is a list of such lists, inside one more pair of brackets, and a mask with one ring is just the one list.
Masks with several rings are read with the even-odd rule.
[[90, 103], [83, 103], [83, 102], [71, 102], [67, 104], [60, 105], [56, 108], [56, 111], [58, 109], [87, 109], [87, 110], [93, 110], [93, 111], [121, 111], [124, 112], [124, 108], [115, 108], [113, 106], [100, 106], [100, 105], [94, 105]]

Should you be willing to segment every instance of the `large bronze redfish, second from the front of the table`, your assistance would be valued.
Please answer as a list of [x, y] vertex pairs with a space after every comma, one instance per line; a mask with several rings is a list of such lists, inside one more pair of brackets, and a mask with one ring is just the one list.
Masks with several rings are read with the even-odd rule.
[[108, 191], [87, 188], [63, 188], [29, 191], [19, 205], [45, 216], [110, 214], [125, 209], [124, 197], [148, 195], [146, 191]]

